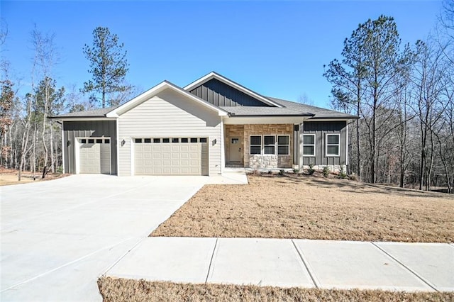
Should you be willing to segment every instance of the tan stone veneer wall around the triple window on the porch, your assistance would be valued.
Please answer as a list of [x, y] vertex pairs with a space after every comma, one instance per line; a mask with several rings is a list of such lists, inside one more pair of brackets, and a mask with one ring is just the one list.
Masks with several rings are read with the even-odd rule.
[[[250, 135], [289, 135], [289, 155], [249, 155]], [[253, 169], [291, 168], [293, 124], [244, 125], [244, 167]], [[277, 145], [276, 145], [277, 147]]]

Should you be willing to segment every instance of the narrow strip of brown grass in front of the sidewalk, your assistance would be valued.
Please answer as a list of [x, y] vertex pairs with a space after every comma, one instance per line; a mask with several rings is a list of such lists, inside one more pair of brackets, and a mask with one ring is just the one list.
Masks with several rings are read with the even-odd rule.
[[282, 289], [220, 284], [175, 284], [145, 280], [98, 280], [104, 302], [110, 301], [454, 301], [454, 292]]

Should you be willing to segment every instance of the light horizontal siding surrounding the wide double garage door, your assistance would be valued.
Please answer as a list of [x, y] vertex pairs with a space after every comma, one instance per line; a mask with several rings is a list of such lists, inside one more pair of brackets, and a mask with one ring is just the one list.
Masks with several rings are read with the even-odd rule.
[[[221, 174], [221, 117], [175, 91], [166, 89], [118, 118], [119, 176], [133, 170], [134, 138], [207, 138], [209, 175]], [[204, 167], [202, 167], [204, 168]]]

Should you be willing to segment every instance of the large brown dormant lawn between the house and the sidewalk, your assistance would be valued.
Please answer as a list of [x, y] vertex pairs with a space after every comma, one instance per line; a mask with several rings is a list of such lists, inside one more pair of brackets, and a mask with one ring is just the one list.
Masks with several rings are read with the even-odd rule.
[[454, 196], [345, 179], [206, 185], [151, 236], [453, 242]]

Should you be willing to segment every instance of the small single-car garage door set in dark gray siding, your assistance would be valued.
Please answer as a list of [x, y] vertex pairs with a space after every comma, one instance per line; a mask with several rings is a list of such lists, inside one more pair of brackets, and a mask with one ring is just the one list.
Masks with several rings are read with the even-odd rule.
[[110, 138], [79, 138], [79, 172], [111, 174]]

